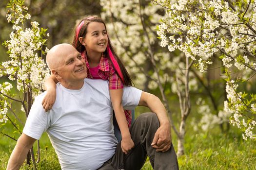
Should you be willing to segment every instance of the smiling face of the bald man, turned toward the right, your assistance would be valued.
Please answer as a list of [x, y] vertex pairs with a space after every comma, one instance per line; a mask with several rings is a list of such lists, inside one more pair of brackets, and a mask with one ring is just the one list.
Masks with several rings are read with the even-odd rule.
[[68, 84], [83, 81], [87, 77], [85, 61], [75, 48], [72, 48], [68, 53], [69, 55], [62, 58], [60, 67], [57, 68], [59, 76]]

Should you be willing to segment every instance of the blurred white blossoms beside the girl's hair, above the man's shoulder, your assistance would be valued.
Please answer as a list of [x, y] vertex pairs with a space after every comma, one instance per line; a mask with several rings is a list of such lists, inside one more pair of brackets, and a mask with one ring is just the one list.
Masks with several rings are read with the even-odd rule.
[[[150, 0], [141, 3], [140, 6], [138, 0], [100, 0], [103, 8], [101, 17], [108, 22], [108, 34], [135, 85], [155, 89], [159, 74], [151, 67], [150, 46], [154, 47], [157, 67], [163, 71], [159, 77], [161, 83], [170, 80], [166, 72], [172, 65], [170, 53], [160, 48], [156, 36], [156, 26], [164, 15], [164, 9], [152, 5]], [[140, 17], [143, 17], [145, 30]], [[149, 81], [147, 76], [151, 78]]]

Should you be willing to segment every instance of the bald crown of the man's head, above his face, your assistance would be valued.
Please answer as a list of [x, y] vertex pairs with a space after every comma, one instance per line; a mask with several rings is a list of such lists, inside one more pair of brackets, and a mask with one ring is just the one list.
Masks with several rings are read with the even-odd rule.
[[64, 58], [74, 51], [77, 50], [70, 44], [63, 43], [54, 46], [46, 55], [48, 68], [52, 71], [53, 69], [64, 65]]

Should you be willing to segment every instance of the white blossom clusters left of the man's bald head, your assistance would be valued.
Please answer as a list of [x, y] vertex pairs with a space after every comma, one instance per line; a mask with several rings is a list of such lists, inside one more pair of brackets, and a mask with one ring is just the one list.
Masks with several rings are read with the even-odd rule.
[[[46, 43], [46, 29], [39, 28], [39, 23], [31, 22], [31, 27], [26, 28], [25, 22], [31, 18], [27, 13], [27, 7], [22, 1], [10, 0], [8, 4], [10, 13], [6, 15], [7, 21], [13, 24], [13, 31], [10, 39], [3, 44], [8, 49], [9, 60], [0, 64], [0, 77], [8, 76], [10, 81], [16, 81], [17, 89], [21, 92], [18, 95], [30, 93], [32, 99], [42, 91], [44, 79], [50, 76], [50, 71], [39, 55], [44, 55], [42, 47]], [[1, 102], [0, 113], [6, 115], [8, 101], [12, 99], [23, 99], [22, 96], [12, 94], [12, 84], [4, 82], [0, 85]], [[0, 121], [6, 121], [1, 116]]]

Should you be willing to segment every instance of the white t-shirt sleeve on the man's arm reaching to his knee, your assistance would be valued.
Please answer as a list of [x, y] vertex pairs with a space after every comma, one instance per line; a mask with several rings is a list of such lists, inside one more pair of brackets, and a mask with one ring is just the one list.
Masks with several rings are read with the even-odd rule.
[[133, 110], [138, 106], [142, 91], [132, 86], [125, 86], [122, 105], [125, 110]]

